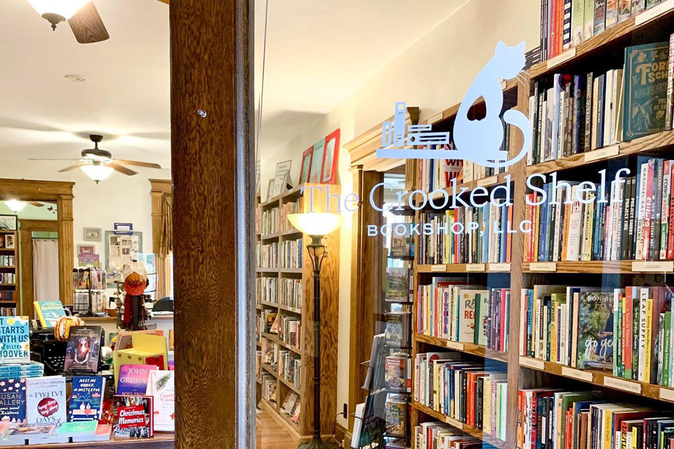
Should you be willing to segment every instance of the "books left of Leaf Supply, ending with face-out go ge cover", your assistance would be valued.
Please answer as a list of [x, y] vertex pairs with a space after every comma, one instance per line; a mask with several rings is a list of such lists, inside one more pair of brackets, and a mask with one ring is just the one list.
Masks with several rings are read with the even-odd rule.
[[520, 355], [573, 368], [611, 370], [614, 293], [595, 287], [522, 289]]

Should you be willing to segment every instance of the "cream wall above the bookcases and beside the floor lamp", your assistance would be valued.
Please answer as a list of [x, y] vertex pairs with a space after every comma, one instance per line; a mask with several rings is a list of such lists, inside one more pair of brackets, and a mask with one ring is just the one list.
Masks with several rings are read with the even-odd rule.
[[[460, 102], [477, 72], [494, 55], [499, 40], [508, 46], [526, 41], [527, 51], [538, 46], [539, 13], [538, 1], [471, 0], [287, 145], [279, 149], [261, 148], [263, 198], [266, 180], [273, 177], [275, 163], [291, 159], [293, 180], [297, 182], [302, 152], [335, 128], [341, 128], [343, 144], [391, 116], [396, 101], [405, 100], [409, 106], [421, 107], [422, 119]], [[345, 194], [352, 191], [352, 177], [348, 171], [349, 156], [343, 149], [339, 159], [339, 177]], [[344, 223], [340, 237], [337, 410], [348, 403], [351, 375], [348, 370], [351, 220]], [[339, 422], [346, 425], [342, 417]]]

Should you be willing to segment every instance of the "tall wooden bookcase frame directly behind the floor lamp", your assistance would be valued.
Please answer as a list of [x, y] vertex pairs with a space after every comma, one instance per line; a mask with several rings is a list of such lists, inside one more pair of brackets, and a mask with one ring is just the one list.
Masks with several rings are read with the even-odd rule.
[[[313, 193], [313, 210], [324, 210], [326, 192], [324, 185], [303, 185], [290, 189], [275, 198], [260, 204], [260, 233], [258, 234], [258, 253], [267, 254], [265, 260], [258, 257], [256, 282], [263, 283], [269, 297], [260, 297], [260, 288], [256, 288], [256, 314], [258, 319], [258, 357], [259, 369], [258, 384], [261, 388], [260, 407], [271, 415], [279, 424], [287, 429], [295, 441], [305, 441], [312, 435], [313, 429], [313, 301], [312, 301], [312, 268], [308, 259], [306, 244], [310, 241], [308, 235], [298, 232], [286, 218], [287, 213], [300, 213], [309, 210], [309, 191], [300, 193], [301, 187], [322, 187]], [[330, 185], [330, 194], [339, 193], [338, 185]], [[292, 206], [294, 205], [296, 206]], [[296, 207], [291, 209], [291, 207]], [[287, 210], [287, 212], [286, 212]], [[263, 219], [263, 215], [265, 218]], [[272, 220], [270, 223], [268, 220]], [[262, 225], [263, 222], [267, 226]], [[272, 232], [267, 232], [271, 230]], [[301, 239], [301, 242], [299, 241]], [[283, 245], [295, 245], [293, 253], [301, 254], [299, 267], [286, 267], [282, 263]], [[274, 249], [276, 248], [276, 249]], [[322, 434], [329, 436], [332, 432], [334, 413], [336, 410], [336, 382], [337, 366], [334, 361], [337, 357], [337, 328], [338, 328], [338, 281], [339, 281], [339, 231], [326, 237], [326, 250], [329, 256], [322, 268], [322, 316], [321, 316], [321, 420]], [[265, 253], [270, 251], [271, 253]], [[262, 262], [262, 263], [260, 263]], [[296, 264], [294, 264], [296, 265]], [[270, 283], [269, 283], [270, 282]], [[300, 304], [291, 304], [289, 298], [282, 300], [284, 288], [287, 292], [291, 287], [300, 288]], [[290, 305], [289, 305], [290, 304]], [[298, 307], [296, 307], [298, 306]], [[279, 319], [279, 330], [274, 333], [265, 323], [265, 314], [276, 314]], [[295, 338], [299, 344], [289, 342], [289, 332], [283, 332], [282, 321], [298, 321], [300, 334]], [[271, 324], [269, 324], [271, 326]], [[294, 332], [293, 332], [294, 334]], [[265, 352], [273, 354], [272, 360], [265, 361]], [[279, 354], [286, 354], [286, 361], [297, 359], [300, 373], [293, 378], [286, 377], [282, 372], [282, 363], [279, 363]], [[271, 361], [272, 363], [266, 363]], [[275, 363], [274, 363], [275, 362]], [[286, 363], [287, 364], [287, 363]], [[292, 371], [292, 370], [291, 370]], [[287, 373], [288, 371], [286, 371]], [[275, 397], [265, 395], [266, 382], [272, 382]], [[289, 413], [285, 413], [284, 401], [289, 395], [297, 396], [299, 407], [298, 422], [294, 422]], [[274, 400], [272, 400], [274, 399]]]

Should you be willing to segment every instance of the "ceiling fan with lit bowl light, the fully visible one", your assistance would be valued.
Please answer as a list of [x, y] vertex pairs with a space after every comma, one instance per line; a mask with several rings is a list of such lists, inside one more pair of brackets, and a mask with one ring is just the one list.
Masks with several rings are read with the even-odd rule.
[[92, 134], [89, 139], [93, 142], [93, 148], [82, 150], [82, 159], [29, 159], [30, 161], [79, 161], [74, 166], [58, 170], [59, 173], [80, 168], [84, 173], [91, 177], [92, 180], [98, 184], [99, 181], [104, 180], [110, 176], [112, 170], [117, 170], [124, 175], [133, 176], [138, 172], [126, 168], [127, 166], [138, 166], [147, 168], [161, 168], [158, 163], [140, 162], [140, 161], [126, 161], [124, 159], [112, 159], [112, 153], [105, 149], [98, 148], [98, 142], [103, 140], [102, 135]]

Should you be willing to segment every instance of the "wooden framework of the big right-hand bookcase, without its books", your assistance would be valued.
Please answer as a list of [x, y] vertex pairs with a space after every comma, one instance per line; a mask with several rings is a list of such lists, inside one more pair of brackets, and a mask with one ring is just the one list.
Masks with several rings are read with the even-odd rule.
[[[603, 62], [595, 62], [596, 58], [603, 58], [604, 52], [609, 49], [612, 51], [622, 51], [626, 46], [632, 45], [633, 39], [647, 39], [645, 32], [651, 32], [659, 27], [671, 31], [674, 24], [674, 2], [668, 1], [659, 9], [641, 13], [641, 17], [630, 18], [623, 21], [607, 31], [594, 36], [593, 38], [584, 41], [583, 43], [572, 48], [562, 55], [552, 58], [548, 61], [543, 61], [529, 69], [529, 83], [514, 83], [512, 80], [505, 83], [505, 90], [516, 91], [517, 102], [516, 109], [528, 116], [529, 114], [529, 95], [531, 95], [530, 87], [533, 86], [533, 81], [540, 79], [543, 76], [548, 76], [553, 73], [588, 73], [595, 67], [602, 67]], [[666, 6], [664, 6], [666, 5]], [[648, 20], [645, 20], [645, 19]], [[641, 41], [639, 41], [641, 43]], [[507, 100], [509, 95], [506, 93], [504, 98]], [[431, 117], [423, 123], [438, 123], [439, 126], [451, 127], [451, 122], [454, 120], [454, 115], [458, 112], [459, 105], [454, 105], [445, 109], [442, 113]], [[520, 133], [515, 133], [514, 138], [510, 142], [510, 154], [513, 154], [514, 149], [519, 149], [522, 145], [522, 138]], [[627, 142], [619, 142], [616, 145], [599, 148], [592, 152], [581, 154], [574, 154], [572, 156], [562, 157], [555, 161], [548, 161], [538, 163], [536, 165], [527, 166], [525, 161], [520, 161], [511, 166], [507, 173], [498, 175], [495, 178], [485, 182], [484, 180], [471, 181], [458, 185], [460, 187], [468, 187], [473, 189], [484, 183], [485, 187], [491, 185], [498, 185], [505, 182], [505, 175], [511, 175], [513, 183], [513, 222], [521, 222], [526, 219], [525, 195], [527, 194], [526, 179], [529, 175], [534, 174], [549, 174], [553, 172], [570, 173], [571, 175], [582, 175], [582, 170], [588, 170], [588, 164], [597, 164], [597, 166], [605, 165], [609, 161], [615, 159], [625, 159], [634, 155], [662, 155], [671, 154], [674, 149], [674, 130], [668, 130], [661, 133], [654, 133], [642, 138]], [[411, 164], [408, 162], [408, 164]], [[418, 171], [408, 171], [408, 173], [415, 173], [418, 176]], [[630, 173], [635, 175], [635, 173]], [[409, 180], [407, 180], [409, 183]], [[412, 185], [416, 187], [416, 179], [413, 180]], [[451, 194], [451, 189], [446, 189]], [[430, 197], [430, 192], [427, 192]], [[418, 214], [417, 214], [418, 222]], [[418, 237], [416, 237], [416, 248], [418, 248]], [[587, 274], [595, 276], [594, 278], [583, 279], [579, 281], [582, 285], [595, 285], [597, 288], [602, 286], [603, 274], [644, 274], [656, 273], [666, 274], [673, 272], [671, 261], [653, 261], [647, 262], [657, 264], [659, 262], [667, 262], [663, 264], [664, 269], [643, 269], [643, 267], [636, 267], [633, 260], [619, 260], [619, 261], [577, 261], [577, 262], [522, 262], [524, 260], [524, 246], [526, 243], [526, 234], [517, 232], [513, 234], [512, 240], [512, 262], [506, 267], [505, 264], [483, 264], [482, 267], [469, 267], [468, 264], [419, 264], [417, 260], [414, 261], [414, 311], [416, 314], [416, 291], [419, 285], [428, 284], [429, 276], [447, 276], [448, 274], [492, 274], [496, 272], [508, 272], [510, 274], [510, 312], [509, 312], [509, 351], [507, 353], [499, 353], [491, 351], [484, 347], [475, 344], [457, 344], [456, 342], [449, 342], [447, 340], [430, 337], [428, 335], [414, 334], [413, 337], [413, 357], [419, 352], [426, 351], [458, 351], [471, 358], [483, 357], [485, 359], [496, 360], [508, 364], [508, 398], [506, 417], [506, 441], [499, 441], [489, 434], [484, 434], [480, 429], [470, 428], [461, 422], [452, 420], [438, 413], [427, 406], [416, 401], [412, 404], [411, 424], [414, 427], [420, 422], [429, 420], [439, 420], [447, 422], [448, 424], [463, 430], [466, 434], [470, 434], [480, 438], [485, 443], [490, 443], [498, 448], [515, 448], [517, 437], [517, 391], [519, 388], [527, 388], [541, 385], [536, 384], [536, 380], [540, 379], [541, 373], [547, 375], [557, 376], [560, 379], [560, 385], [563, 385], [564, 379], [586, 382], [589, 386], [601, 387], [608, 389], [608, 391], [621, 391], [633, 395], [636, 399], [645, 398], [656, 401], [663, 401], [663, 406], [669, 408], [670, 403], [674, 403], [674, 388], [663, 387], [657, 384], [647, 382], [638, 382], [635, 380], [626, 380], [621, 377], [615, 377], [610, 371], [600, 370], [577, 370], [567, 366], [562, 366], [559, 363], [552, 363], [548, 361], [541, 361], [535, 358], [529, 358], [519, 355], [520, 349], [520, 294], [522, 288], [531, 288], [534, 284], [541, 283], [569, 283], [567, 276], [566, 280], [558, 281], [557, 275], [564, 274]], [[477, 265], [477, 264], [474, 264]], [[495, 269], [496, 268], [496, 269]], [[593, 280], [594, 279], [594, 280]], [[616, 277], [615, 287], [622, 287], [630, 281], [628, 276]], [[617, 285], [620, 283], [620, 285]], [[633, 285], [633, 284], [630, 284]], [[413, 319], [413, 322], [416, 322]], [[416, 378], [417, 373], [413, 373]], [[415, 382], [413, 382], [414, 388]], [[548, 383], [549, 385], [549, 383]], [[413, 392], [414, 394], [414, 392]], [[610, 396], [608, 396], [610, 397]]]

